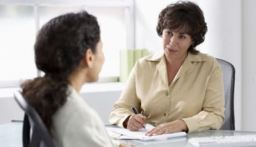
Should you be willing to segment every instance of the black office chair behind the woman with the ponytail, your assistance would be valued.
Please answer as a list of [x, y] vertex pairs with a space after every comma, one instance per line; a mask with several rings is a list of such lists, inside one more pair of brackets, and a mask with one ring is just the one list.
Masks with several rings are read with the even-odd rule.
[[14, 93], [14, 98], [19, 106], [25, 111], [22, 131], [23, 146], [55, 147], [54, 141], [52, 141], [52, 137], [46, 129], [41, 117], [36, 110], [26, 102], [21, 92], [16, 91]]

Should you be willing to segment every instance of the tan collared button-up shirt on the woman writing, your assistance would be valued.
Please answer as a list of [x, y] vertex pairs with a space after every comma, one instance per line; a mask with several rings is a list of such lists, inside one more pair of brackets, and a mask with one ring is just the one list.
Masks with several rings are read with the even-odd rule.
[[164, 53], [139, 59], [114, 104], [109, 122], [123, 127], [133, 113], [130, 104], [143, 115], [150, 115], [146, 123], [154, 126], [182, 119], [189, 132], [219, 129], [224, 122], [220, 65], [210, 55], [189, 53], [169, 85]]

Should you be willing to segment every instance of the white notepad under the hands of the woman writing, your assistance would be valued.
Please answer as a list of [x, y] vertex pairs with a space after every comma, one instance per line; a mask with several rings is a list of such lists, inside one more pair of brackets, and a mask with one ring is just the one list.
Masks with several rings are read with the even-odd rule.
[[154, 126], [146, 124], [145, 129], [139, 129], [137, 132], [129, 131], [128, 129], [123, 128], [113, 128], [112, 132], [119, 133], [121, 135], [128, 136], [132, 139], [139, 139], [142, 141], [149, 141], [152, 139], [167, 139], [167, 138], [175, 138], [178, 136], [186, 136], [187, 134], [185, 132], [177, 132], [177, 133], [168, 133], [168, 134], [162, 134], [162, 135], [155, 135], [155, 136], [147, 136], [145, 135], [149, 130], [154, 128]]

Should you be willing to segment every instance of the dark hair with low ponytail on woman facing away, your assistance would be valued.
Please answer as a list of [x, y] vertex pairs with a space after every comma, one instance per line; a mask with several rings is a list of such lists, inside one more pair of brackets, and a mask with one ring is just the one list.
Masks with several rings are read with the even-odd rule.
[[67, 101], [68, 76], [77, 69], [88, 48], [96, 52], [100, 29], [95, 16], [86, 11], [51, 19], [39, 31], [35, 64], [43, 77], [22, 83], [22, 93], [50, 130], [52, 115]]

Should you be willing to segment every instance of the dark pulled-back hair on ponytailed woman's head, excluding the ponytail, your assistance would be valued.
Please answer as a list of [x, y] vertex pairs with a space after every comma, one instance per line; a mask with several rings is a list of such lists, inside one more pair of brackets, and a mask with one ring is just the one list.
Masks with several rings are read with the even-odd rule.
[[36, 38], [35, 63], [45, 74], [66, 78], [99, 42], [99, 26], [87, 12], [65, 14], [46, 23]]

